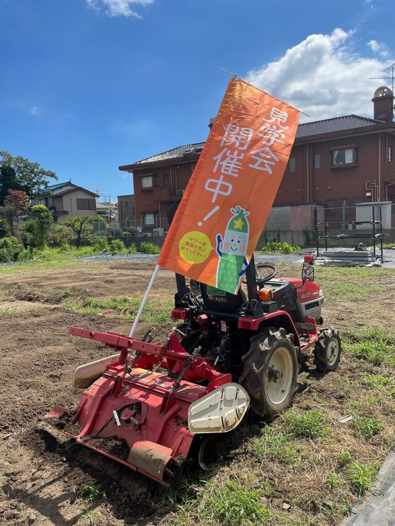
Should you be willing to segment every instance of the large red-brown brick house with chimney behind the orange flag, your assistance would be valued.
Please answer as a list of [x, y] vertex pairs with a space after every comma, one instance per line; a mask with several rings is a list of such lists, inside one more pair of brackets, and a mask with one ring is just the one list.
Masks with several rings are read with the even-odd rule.
[[[393, 100], [391, 89], [381, 87], [372, 99], [374, 118], [345, 115], [300, 124], [274, 206], [321, 204], [333, 216], [343, 209], [347, 221], [348, 207], [395, 203]], [[183, 194], [203, 146], [179, 146], [119, 167], [133, 173], [136, 221], [144, 231], [168, 228], [170, 206]]]

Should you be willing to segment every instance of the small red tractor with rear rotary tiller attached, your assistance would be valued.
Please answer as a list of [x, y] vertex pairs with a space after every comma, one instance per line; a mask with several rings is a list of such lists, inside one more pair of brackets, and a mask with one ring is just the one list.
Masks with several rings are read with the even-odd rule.
[[152, 331], [139, 341], [72, 327], [115, 354], [78, 367], [78, 408], [56, 406], [46, 417], [70, 439], [166, 483], [192, 443], [233, 430], [249, 407], [267, 420], [289, 407], [308, 349], [320, 371], [338, 367], [339, 332], [317, 327], [323, 292], [313, 277], [306, 264], [302, 279], [276, 277], [252, 258], [246, 287], [233, 295], [176, 275], [171, 317], [181, 323], [163, 343], [152, 343]]

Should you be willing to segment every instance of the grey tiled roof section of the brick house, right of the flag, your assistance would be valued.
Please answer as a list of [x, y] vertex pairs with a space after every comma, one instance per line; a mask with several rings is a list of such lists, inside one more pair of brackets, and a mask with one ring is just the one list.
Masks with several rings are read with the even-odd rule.
[[296, 137], [299, 139], [300, 137], [363, 128], [364, 126], [374, 126], [382, 123], [382, 120], [370, 119], [369, 117], [344, 115], [342, 117], [332, 117], [331, 119], [316, 120], [312, 123], [302, 123], [298, 126]]

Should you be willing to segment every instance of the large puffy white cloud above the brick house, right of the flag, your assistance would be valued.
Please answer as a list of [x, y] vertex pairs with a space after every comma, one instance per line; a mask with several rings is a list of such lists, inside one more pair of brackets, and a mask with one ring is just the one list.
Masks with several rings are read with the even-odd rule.
[[[353, 31], [309, 35], [285, 54], [248, 73], [246, 80], [310, 115], [301, 121], [362, 114], [372, 116], [371, 99], [385, 67], [350, 49]], [[382, 81], [381, 81], [382, 82]]]

